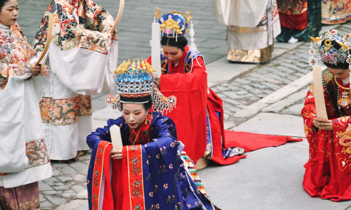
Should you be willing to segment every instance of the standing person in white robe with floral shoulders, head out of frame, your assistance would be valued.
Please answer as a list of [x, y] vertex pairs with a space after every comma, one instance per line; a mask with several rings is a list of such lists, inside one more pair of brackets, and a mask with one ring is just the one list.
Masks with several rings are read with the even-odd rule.
[[89, 147], [93, 131], [91, 96], [114, 90], [117, 33], [113, 17], [91, 0], [51, 0], [34, 40], [40, 54], [47, 40], [48, 15], [54, 14], [47, 64], [50, 79], [38, 83], [49, 157], [71, 160]]

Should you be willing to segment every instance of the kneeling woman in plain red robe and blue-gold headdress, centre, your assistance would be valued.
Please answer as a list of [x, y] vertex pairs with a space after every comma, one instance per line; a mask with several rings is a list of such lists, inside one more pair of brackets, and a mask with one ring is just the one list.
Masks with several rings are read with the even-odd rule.
[[[187, 46], [184, 37], [188, 21], [178, 12], [160, 17], [161, 68], [159, 86], [164, 94], [177, 97], [177, 107], [166, 116], [177, 125], [178, 140], [185, 144], [188, 156], [197, 162], [201, 157], [228, 165], [237, 162], [244, 149], [225, 148], [222, 100], [207, 88], [207, 71], [204, 58], [192, 43]], [[192, 29], [191, 29], [192, 30]], [[193, 47], [195, 46], [195, 47]], [[151, 63], [151, 56], [148, 59]], [[236, 158], [226, 159], [236, 156]]]

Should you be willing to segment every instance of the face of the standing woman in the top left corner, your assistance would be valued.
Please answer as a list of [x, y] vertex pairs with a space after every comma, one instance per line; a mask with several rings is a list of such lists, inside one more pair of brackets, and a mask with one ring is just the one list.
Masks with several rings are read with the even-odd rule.
[[17, 0], [8, 0], [0, 12], [0, 23], [5, 26], [12, 26], [16, 23], [18, 17]]

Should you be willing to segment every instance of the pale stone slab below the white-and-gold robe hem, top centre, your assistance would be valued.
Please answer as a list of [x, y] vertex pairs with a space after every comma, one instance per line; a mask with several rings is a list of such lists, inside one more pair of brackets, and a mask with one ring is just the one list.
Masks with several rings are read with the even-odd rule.
[[227, 56], [224, 56], [206, 65], [207, 82], [221, 84], [256, 66], [257, 64], [230, 63]]

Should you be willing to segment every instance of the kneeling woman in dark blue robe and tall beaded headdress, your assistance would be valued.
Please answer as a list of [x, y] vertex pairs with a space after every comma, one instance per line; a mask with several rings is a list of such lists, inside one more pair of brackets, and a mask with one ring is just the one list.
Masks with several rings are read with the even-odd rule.
[[[203, 186], [193, 181], [193, 166], [188, 168], [191, 161], [181, 154], [183, 145], [177, 142], [172, 119], [159, 111], [150, 112], [151, 106], [163, 111], [176, 103], [175, 97], [165, 100], [154, 87], [152, 70], [142, 61], [121, 64], [115, 72], [119, 94], [108, 95], [106, 101], [123, 116], [108, 120], [107, 126], [87, 137], [92, 149], [87, 180], [89, 209], [217, 209]], [[112, 148], [113, 125], [120, 127], [122, 151]]]

